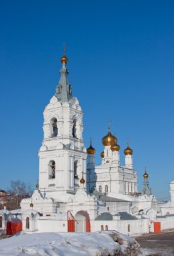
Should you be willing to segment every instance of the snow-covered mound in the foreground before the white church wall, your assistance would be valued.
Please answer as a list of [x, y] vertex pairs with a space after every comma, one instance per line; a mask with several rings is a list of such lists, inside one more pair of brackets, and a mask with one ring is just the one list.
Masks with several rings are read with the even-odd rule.
[[112, 256], [138, 255], [139, 251], [134, 238], [115, 231], [21, 233], [0, 241], [0, 255], [8, 256]]

